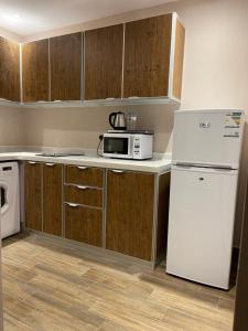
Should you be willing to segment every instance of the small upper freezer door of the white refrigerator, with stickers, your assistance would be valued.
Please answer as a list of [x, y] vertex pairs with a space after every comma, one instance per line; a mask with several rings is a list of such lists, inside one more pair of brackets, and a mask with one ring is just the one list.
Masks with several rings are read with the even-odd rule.
[[244, 114], [239, 110], [176, 111], [172, 162], [238, 169]]

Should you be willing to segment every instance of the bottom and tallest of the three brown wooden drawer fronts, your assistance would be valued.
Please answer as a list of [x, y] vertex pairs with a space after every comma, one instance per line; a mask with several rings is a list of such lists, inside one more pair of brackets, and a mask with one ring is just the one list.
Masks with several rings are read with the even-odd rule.
[[103, 211], [65, 204], [65, 237], [103, 246]]

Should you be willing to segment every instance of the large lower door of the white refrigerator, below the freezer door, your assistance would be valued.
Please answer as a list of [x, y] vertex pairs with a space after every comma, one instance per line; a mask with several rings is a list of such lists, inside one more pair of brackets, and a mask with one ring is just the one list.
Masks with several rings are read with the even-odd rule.
[[166, 273], [228, 289], [238, 171], [173, 167]]

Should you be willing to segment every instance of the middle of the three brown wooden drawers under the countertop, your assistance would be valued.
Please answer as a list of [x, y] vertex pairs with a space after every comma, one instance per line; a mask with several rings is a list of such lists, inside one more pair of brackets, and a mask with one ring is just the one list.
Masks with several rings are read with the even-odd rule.
[[103, 206], [103, 190], [83, 185], [64, 185], [64, 200], [66, 202]]

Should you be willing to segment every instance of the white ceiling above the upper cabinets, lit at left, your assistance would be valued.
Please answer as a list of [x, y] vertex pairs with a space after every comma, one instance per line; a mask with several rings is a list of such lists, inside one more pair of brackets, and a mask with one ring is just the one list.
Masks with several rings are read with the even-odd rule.
[[1, 0], [0, 26], [26, 36], [173, 0]]

